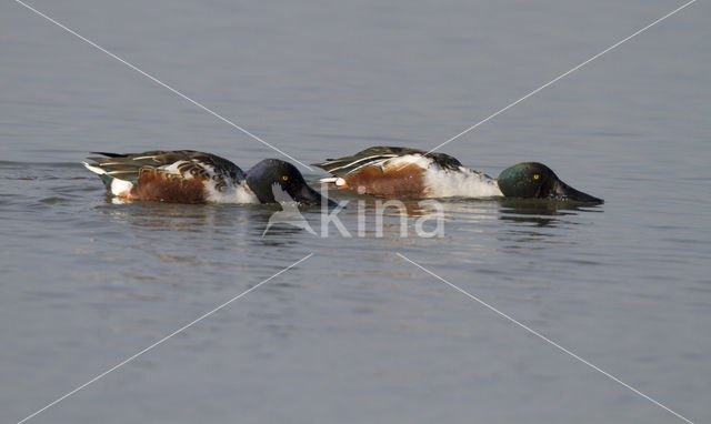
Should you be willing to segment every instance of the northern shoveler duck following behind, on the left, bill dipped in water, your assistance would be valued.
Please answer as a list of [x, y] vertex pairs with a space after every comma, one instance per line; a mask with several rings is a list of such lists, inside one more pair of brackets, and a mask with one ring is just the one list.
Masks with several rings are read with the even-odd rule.
[[[289, 162], [264, 159], [247, 174], [224, 158], [192, 150], [104, 153], [82, 162], [99, 175], [107, 190], [128, 201], [172, 203], [274, 203], [274, 185], [304, 204], [322, 196]], [[326, 199], [329, 204], [332, 201]]]

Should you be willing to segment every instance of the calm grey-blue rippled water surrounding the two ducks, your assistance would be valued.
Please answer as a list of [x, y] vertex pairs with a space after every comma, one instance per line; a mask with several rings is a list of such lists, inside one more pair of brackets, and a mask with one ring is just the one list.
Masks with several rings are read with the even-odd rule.
[[[306, 163], [429, 149], [681, 6], [31, 4]], [[271, 206], [107, 201], [78, 164], [89, 151], [189, 148], [243, 169], [278, 154], [4, 2], [0, 417], [313, 253], [31, 422], [681, 422], [400, 253], [710, 421], [710, 12], [692, 4], [442, 149], [494, 175], [544, 162], [605, 204], [449, 200], [439, 239], [400, 238], [395, 216], [382, 238], [262, 239]], [[340, 216], [357, 231], [356, 209]]]

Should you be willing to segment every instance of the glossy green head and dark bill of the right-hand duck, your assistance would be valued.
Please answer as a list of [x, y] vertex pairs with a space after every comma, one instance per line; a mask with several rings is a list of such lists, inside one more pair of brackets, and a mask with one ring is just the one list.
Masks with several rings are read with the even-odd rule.
[[603, 203], [562, 182], [548, 166], [538, 162], [523, 162], [501, 171], [499, 189], [507, 198], [558, 199], [575, 202]]

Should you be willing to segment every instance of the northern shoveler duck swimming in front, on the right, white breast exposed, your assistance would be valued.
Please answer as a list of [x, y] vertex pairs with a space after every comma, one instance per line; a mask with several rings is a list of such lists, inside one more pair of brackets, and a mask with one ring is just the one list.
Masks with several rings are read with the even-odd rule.
[[463, 166], [449, 154], [377, 147], [313, 165], [333, 175], [322, 182], [383, 198], [507, 196], [602, 203], [565, 184], [538, 162], [515, 164], [493, 179]]

